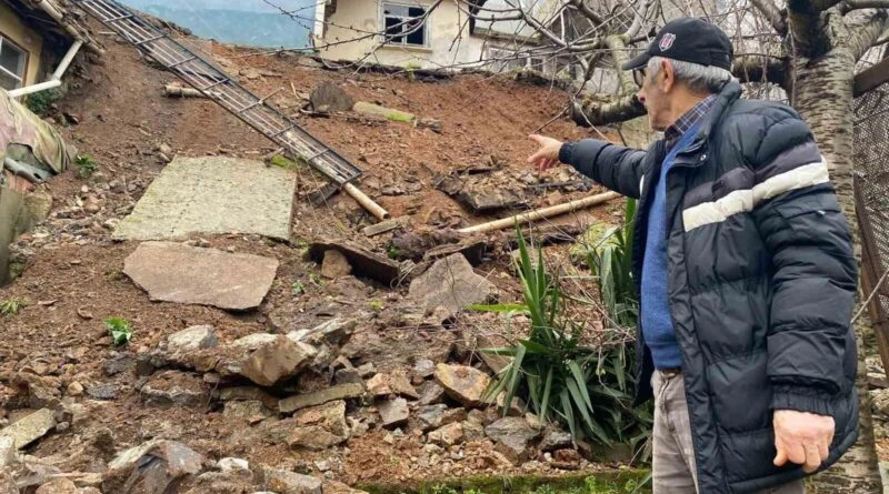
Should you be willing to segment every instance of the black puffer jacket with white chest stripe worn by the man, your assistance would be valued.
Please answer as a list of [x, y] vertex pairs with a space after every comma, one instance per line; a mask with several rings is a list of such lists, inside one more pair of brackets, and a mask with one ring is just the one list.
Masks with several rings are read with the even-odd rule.
[[[772, 410], [832, 415], [825, 467], [855, 442], [856, 293], [851, 236], [828, 167], [790, 108], [742, 100], [728, 83], [699, 138], [667, 175], [670, 314], [682, 354], [698, 482], [743, 493], [803, 476], [778, 468]], [[666, 151], [601, 141], [565, 144], [560, 160], [639, 198], [633, 276]], [[638, 286], [637, 286], [638, 288]], [[651, 397], [651, 355], [639, 335], [637, 400]]]

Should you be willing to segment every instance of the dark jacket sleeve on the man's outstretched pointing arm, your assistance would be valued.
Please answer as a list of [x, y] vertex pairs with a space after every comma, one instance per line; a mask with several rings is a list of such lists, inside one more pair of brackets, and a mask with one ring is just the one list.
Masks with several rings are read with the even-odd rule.
[[639, 149], [585, 139], [562, 144], [559, 161], [615, 192], [639, 199], [645, 155]]

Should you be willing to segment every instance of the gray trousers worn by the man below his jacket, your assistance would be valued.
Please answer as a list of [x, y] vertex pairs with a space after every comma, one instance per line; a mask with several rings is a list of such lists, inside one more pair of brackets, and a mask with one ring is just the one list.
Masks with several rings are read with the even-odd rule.
[[[696, 494], [698, 474], [691, 446], [691, 424], [682, 375], [655, 371], [655, 431], [652, 452], [653, 494]], [[795, 481], [757, 494], [803, 494], [803, 482]], [[699, 493], [707, 494], [707, 493]]]

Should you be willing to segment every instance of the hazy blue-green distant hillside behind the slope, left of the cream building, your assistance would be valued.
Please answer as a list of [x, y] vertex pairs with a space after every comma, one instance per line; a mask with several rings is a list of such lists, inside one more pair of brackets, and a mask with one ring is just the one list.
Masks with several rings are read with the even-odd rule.
[[201, 38], [248, 47], [308, 46], [314, 14], [313, 0], [278, 0], [276, 4], [297, 11], [298, 21], [260, 0], [123, 0], [139, 10], [190, 29]]

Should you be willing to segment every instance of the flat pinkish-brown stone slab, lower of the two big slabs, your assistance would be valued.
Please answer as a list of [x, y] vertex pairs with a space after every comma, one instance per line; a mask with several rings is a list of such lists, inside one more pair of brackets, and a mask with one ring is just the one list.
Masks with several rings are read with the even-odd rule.
[[269, 292], [278, 261], [172, 242], [146, 242], [123, 262], [123, 272], [152, 301], [244, 311]]

